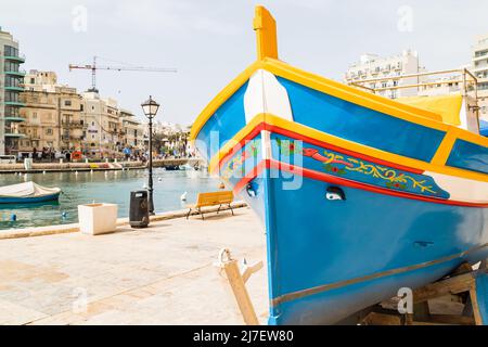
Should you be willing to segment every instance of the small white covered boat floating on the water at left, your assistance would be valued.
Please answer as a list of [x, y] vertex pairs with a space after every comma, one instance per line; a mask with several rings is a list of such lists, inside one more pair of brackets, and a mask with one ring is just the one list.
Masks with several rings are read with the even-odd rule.
[[0, 187], [0, 204], [40, 203], [57, 200], [60, 188], [48, 188], [33, 181]]

